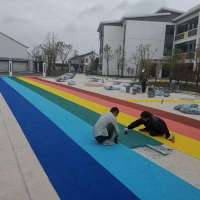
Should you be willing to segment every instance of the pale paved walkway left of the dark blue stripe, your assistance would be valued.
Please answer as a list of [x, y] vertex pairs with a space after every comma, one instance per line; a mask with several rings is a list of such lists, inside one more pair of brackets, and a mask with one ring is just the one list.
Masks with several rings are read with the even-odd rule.
[[59, 199], [0, 95], [0, 199]]

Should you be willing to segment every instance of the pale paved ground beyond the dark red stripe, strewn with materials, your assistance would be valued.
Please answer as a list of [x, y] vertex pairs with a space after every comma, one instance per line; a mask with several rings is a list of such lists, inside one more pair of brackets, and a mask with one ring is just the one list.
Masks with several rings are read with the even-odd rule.
[[[91, 83], [88, 82], [88, 78], [89, 76], [85, 76], [85, 74], [77, 74], [75, 76], [75, 78], [73, 80], [76, 81], [76, 85], [73, 85], [73, 87], [79, 88], [79, 89], [84, 89], [84, 90], [88, 90], [91, 92], [95, 92], [95, 93], [99, 93], [99, 94], [103, 94], [106, 96], [111, 96], [114, 98], [118, 98], [118, 99], [122, 99], [122, 100], [126, 100], [126, 101], [137, 101], [137, 100], [141, 100], [142, 101], [137, 101], [138, 104], [144, 105], [144, 106], [148, 106], [148, 107], [152, 107], [152, 108], [156, 108], [156, 109], [160, 109], [160, 110], [164, 110], [164, 111], [168, 111], [171, 113], [175, 113], [178, 115], [182, 115], [182, 116], [186, 116], [186, 117], [190, 117], [193, 119], [197, 119], [200, 120], [200, 116], [199, 115], [189, 115], [189, 114], [185, 114], [185, 113], [181, 113], [177, 110], [174, 110], [174, 106], [175, 105], [179, 105], [179, 104], [183, 104], [187, 101], [187, 103], [199, 103], [200, 101], [200, 95], [191, 95], [191, 94], [184, 94], [184, 93], [173, 93], [171, 94], [171, 96], [169, 98], [164, 98], [165, 101], [163, 103], [162, 99], [163, 97], [155, 97], [155, 99], [158, 100], [157, 101], [153, 101], [154, 99], [149, 99], [147, 97], [146, 94], [137, 94], [137, 95], [133, 95], [133, 94], [129, 94], [129, 93], [123, 93], [120, 92], [118, 90], [105, 90], [102, 83]], [[55, 78], [46, 78], [47, 80], [53, 81], [55, 82]], [[104, 78], [104, 85], [112, 85], [113, 81], [115, 81], [114, 79], [109, 78], [108, 80], [106, 80]], [[118, 81], [124, 81], [123, 79], [119, 79]], [[127, 81], [127, 80], [126, 80]], [[130, 82], [130, 80], [129, 80]], [[89, 84], [93, 84], [94, 86], [88, 86]], [[61, 82], [61, 84], [63, 85], [67, 85], [67, 82]], [[98, 85], [95, 87], [95, 84]], [[99, 87], [100, 86], [100, 87]], [[147, 100], [147, 101], [146, 101]], [[149, 101], [150, 100], [150, 101]], [[169, 102], [169, 101], [172, 102]], [[175, 102], [175, 101], [176, 102]], [[177, 101], [178, 100], [178, 101]]]

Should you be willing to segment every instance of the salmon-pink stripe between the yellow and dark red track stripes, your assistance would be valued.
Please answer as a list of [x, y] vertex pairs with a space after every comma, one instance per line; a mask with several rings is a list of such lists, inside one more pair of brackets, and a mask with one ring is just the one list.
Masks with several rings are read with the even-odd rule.
[[[134, 107], [132, 107], [132, 106], [128, 107], [127, 105], [123, 105], [121, 103], [121, 100], [119, 100], [119, 102], [117, 102], [116, 101], [117, 99], [115, 99], [115, 101], [113, 103], [112, 99], [114, 99], [114, 98], [111, 98], [111, 100], [108, 101], [107, 98], [104, 98], [104, 97], [106, 97], [104, 95], [100, 95], [101, 98], [99, 98], [98, 94], [96, 95], [95, 93], [90, 93], [90, 92], [89, 92], [90, 94], [88, 94], [87, 91], [85, 92], [84, 90], [80, 90], [80, 89], [77, 90], [77, 88], [61, 85], [61, 84], [58, 84], [58, 83], [52, 83], [50, 81], [41, 80], [41, 79], [38, 79], [38, 78], [30, 78], [30, 79], [32, 79], [36, 82], [40, 82], [40, 83], [45, 82], [45, 84], [48, 85], [48, 86], [51, 86], [53, 88], [56, 88], [56, 89], [59, 89], [59, 90], [62, 90], [62, 91], [70, 92], [70, 93], [72, 93], [76, 96], [88, 99], [90, 101], [97, 102], [97, 103], [105, 105], [107, 107], [117, 106], [117, 107], [119, 107], [119, 109], [121, 111], [123, 111], [127, 114], [130, 114], [134, 117], [139, 116], [140, 113], [141, 113], [141, 110], [135, 109], [135, 106]], [[125, 101], [122, 101], [122, 102], [124, 103]], [[125, 103], [127, 103], [127, 102], [125, 102]], [[136, 105], [138, 105], [138, 104], [136, 104]], [[147, 109], [144, 109], [144, 110], [147, 110]], [[157, 110], [157, 111], [159, 111], [159, 110]], [[157, 114], [158, 112], [153, 112], [153, 113], [162, 117], [162, 115]], [[168, 112], [166, 112], [166, 113], [168, 113]], [[163, 117], [163, 118], [165, 118], [165, 117]], [[178, 116], [178, 118], [179, 118], [179, 116]], [[188, 119], [190, 119], [190, 118], [188, 118]], [[178, 119], [177, 120], [169, 119], [169, 117], [165, 118], [165, 121], [166, 121], [166, 123], [168, 124], [168, 126], [171, 130], [178, 132], [178, 133], [182, 133], [185, 136], [192, 137], [194, 139], [200, 140], [200, 132], [196, 127], [191, 127], [188, 124], [180, 123], [178, 121]]]

